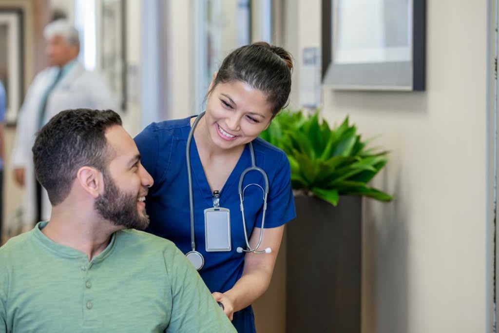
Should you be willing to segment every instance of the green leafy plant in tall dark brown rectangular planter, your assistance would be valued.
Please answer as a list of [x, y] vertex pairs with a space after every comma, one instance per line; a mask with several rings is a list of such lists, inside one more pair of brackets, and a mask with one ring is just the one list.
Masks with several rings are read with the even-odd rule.
[[[346, 117], [283, 111], [261, 133], [289, 159], [297, 218], [286, 227], [286, 332], [360, 332], [361, 197], [391, 201], [369, 181], [387, 151]], [[341, 203], [339, 203], [341, 201]]]

